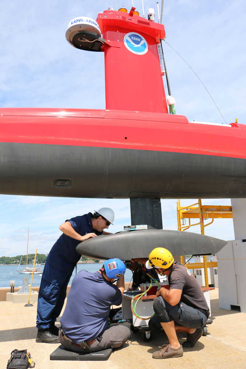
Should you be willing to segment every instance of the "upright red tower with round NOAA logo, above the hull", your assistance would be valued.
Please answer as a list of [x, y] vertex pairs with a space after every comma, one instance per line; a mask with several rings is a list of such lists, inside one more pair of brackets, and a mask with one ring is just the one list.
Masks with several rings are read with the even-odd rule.
[[164, 26], [134, 10], [105, 10], [97, 17], [105, 39], [106, 109], [168, 113], [158, 52]]

